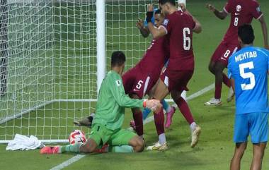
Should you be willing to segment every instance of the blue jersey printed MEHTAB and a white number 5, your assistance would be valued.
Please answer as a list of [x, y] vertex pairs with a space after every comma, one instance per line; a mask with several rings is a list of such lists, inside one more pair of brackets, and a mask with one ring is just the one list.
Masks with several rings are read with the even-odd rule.
[[244, 47], [229, 57], [228, 76], [234, 79], [236, 114], [269, 112], [269, 51]]

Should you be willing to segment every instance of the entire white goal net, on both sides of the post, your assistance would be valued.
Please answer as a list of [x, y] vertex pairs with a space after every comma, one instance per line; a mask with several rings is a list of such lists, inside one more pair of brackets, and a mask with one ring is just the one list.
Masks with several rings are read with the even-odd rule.
[[[143, 56], [151, 36], [135, 24], [149, 3], [157, 5], [105, 1], [107, 70], [115, 50], [125, 52], [126, 69]], [[96, 0], [1, 0], [0, 8], [0, 142], [16, 133], [67, 141], [74, 119], [96, 107]]]

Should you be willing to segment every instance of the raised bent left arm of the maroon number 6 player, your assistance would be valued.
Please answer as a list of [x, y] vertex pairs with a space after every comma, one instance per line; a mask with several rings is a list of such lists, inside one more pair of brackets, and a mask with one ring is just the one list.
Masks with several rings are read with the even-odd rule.
[[154, 27], [153, 23], [151, 23], [151, 18], [154, 14], [153, 9], [154, 8], [152, 4], [147, 5], [147, 22], [148, 22], [147, 27], [149, 28], [152, 37], [154, 39], [157, 39], [159, 37], [163, 37], [164, 35], [166, 35], [166, 30], [162, 27], [156, 28]]

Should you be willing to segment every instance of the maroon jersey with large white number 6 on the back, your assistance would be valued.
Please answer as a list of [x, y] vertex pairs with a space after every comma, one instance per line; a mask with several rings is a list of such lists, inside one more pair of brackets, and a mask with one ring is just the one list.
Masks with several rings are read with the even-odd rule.
[[160, 26], [166, 30], [169, 42], [168, 68], [173, 71], [193, 71], [193, 17], [182, 11], [176, 11], [164, 20]]

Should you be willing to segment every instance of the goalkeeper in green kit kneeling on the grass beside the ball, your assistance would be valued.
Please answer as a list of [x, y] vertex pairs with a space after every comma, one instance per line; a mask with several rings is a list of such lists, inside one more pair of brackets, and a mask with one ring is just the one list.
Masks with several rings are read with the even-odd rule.
[[[125, 54], [115, 51], [111, 56], [111, 70], [101, 85], [96, 114], [91, 133], [86, 142], [73, 145], [43, 147], [41, 154], [59, 154], [64, 152], [96, 152], [103, 144], [108, 143], [109, 152], [142, 152], [144, 140], [130, 130], [121, 128], [125, 107], [148, 107], [159, 111], [161, 104], [156, 99], [131, 99], [125, 95], [122, 85], [122, 72], [125, 68]], [[105, 151], [104, 151], [105, 152]]]

